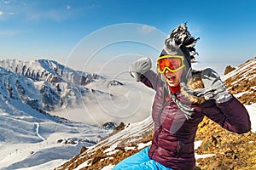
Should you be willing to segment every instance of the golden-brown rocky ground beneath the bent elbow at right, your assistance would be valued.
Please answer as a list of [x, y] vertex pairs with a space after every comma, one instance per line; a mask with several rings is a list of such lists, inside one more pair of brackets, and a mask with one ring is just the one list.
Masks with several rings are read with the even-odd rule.
[[197, 154], [216, 154], [198, 159], [200, 169], [256, 169], [256, 134], [231, 133], [205, 118], [200, 123], [195, 140], [203, 140]]

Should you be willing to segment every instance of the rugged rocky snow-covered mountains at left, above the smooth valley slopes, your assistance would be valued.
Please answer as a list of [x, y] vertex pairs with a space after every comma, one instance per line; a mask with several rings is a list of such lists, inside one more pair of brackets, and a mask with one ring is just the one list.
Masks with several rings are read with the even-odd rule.
[[0, 60], [0, 67], [2, 96], [41, 111], [75, 107], [82, 104], [83, 96], [103, 94], [84, 85], [104, 77], [74, 71], [53, 60], [4, 59]]

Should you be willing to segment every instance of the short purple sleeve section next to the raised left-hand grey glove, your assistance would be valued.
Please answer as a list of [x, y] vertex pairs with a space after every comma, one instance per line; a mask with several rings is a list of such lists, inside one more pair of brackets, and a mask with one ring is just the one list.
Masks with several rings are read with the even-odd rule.
[[141, 75], [141, 82], [143, 82], [148, 88], [153, 88], [156, 90], [158, 83], [160, 83], [160, 76], [150, 70]]

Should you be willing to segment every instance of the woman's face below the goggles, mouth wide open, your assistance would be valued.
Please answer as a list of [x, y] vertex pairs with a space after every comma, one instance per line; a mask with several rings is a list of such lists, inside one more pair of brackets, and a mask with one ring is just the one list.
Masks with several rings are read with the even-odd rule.
[[168, 83], [168, 85], [170, 87], [177, 87], [179, 85], [180, 77], [183, 74], [183, 70], [184, 70], [184, 68], [179, 71], [172, 72], [172, 71], [168, 71], [166, 69], [164, 76], [166, 78], [166, 82]]

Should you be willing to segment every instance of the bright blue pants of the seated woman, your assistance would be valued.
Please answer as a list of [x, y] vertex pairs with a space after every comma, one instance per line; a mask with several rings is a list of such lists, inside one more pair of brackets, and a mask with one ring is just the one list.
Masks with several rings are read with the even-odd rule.
[[172, 170], [170, 167], [165, 167], [148, 157], [148, 148], [145, 148], [137, 154], [120, 161], [113, 170], [143, 170], [143, 169], [159, 169], [159, 170]]

